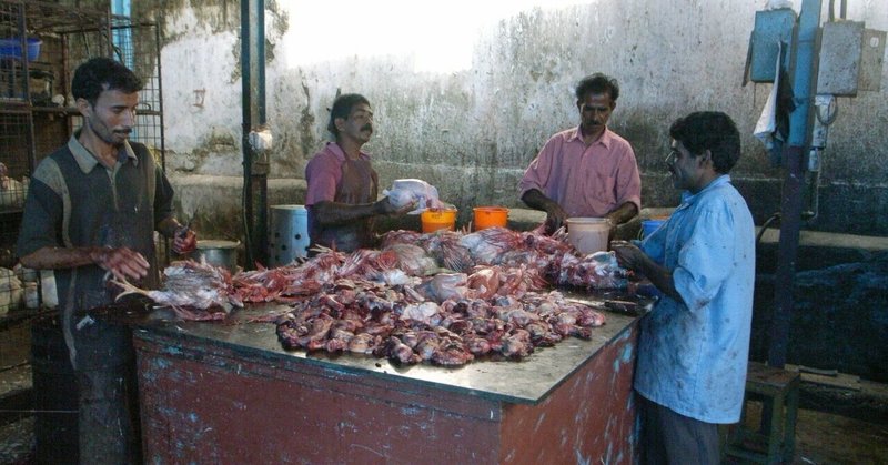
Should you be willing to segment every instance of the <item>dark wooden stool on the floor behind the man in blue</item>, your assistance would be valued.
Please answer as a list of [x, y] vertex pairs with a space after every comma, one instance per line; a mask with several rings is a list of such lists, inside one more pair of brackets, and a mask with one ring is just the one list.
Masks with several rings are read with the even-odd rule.
[[[725, 455], [761, 464], [791, 463], [801, 377], [797, 372], [749, 362], [740, 423], [731, 428]], [[758, 429], [746, 425], [750, 401], [761, 402]]]

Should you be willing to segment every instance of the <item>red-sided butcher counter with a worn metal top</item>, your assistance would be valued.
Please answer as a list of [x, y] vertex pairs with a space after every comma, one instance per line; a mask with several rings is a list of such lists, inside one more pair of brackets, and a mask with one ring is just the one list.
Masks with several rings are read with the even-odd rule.
[[633, 462], [635, 316], [608, 312], [592, 340], [521, 362], [447, 368], [285, 351], [250, 322], [283, 310], [128, 319], [147, 463]]

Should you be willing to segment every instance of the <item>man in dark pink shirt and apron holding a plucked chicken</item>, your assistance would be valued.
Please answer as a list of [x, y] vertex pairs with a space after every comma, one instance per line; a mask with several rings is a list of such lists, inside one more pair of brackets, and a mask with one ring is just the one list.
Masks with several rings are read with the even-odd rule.
[[376, 215], [404, 214], [389, 198], [376, 200], [379, 175], [370, 155], [361, 148], [373, 134], [373, 110], [363, 95], [346, 93], [336, 98], [330, 111], [327, 130], [336, 138], [327, 142], [305, 166], [309, 191], [309, 236], [312, 246], [323, 245], [343, 252], [375, 245], [373, 220]]

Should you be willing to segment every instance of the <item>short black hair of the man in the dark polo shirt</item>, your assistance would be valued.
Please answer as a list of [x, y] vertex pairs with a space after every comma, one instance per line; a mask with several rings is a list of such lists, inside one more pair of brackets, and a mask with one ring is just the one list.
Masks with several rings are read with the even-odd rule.
[[132, 70], [110, 58], [97, 57], [83, 62], [74, 71], [71, 94], [74, 99], [87, 99], [94, 105], [107, 90], [134, 93], [142, 90], [142, 80]]

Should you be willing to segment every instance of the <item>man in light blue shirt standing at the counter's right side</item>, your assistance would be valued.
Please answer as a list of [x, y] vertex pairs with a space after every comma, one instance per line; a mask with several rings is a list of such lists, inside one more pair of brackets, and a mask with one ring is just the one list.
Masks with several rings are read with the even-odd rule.
[[642, 321], [634, 387], [642, 463], [717, 464], [717, 425], [743, 408], [755, 283], [755, 224], [728, 172], [740, 156], [734, 121], [696, 112], [669, 128], [666, 164], [682, 204], [619, 263], [663, 292]]

